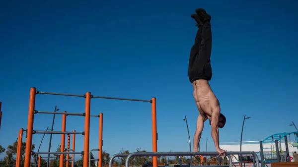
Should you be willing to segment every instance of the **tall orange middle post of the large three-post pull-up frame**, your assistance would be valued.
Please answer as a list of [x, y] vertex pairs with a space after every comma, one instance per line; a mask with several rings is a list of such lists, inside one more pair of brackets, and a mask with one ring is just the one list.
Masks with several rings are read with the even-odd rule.
[[90, 101], [91, 93], [86, 92], [85, 96], [85, 136], [84, 136], [84, 156], [83, 167], [88, 167], [89, 162], [89, 130], [90, 130]]

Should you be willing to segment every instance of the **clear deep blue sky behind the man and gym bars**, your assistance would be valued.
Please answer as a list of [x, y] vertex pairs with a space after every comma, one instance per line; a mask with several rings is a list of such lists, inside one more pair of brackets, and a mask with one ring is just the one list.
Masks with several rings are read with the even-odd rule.
[[[30, 87], [39, 91], [157, 98], [158, 151], [189, 151], [198, 111], [187, 68], [197, 28], [190, 14], [212, 15], [212, 89], [227, 118], [220, 142], [263, 140], [298, 124], [298, 44], [295, 0], [213, 1], [5, 1], [0, 5], [0, 145], [27, 127]], [[84, 99], [37, 95], [35, 110], [83, 112]], [[149, 103], [92, 99], [91, 114], [104, 114], [103, 150], [151, 151]], [[57, 115], [55, 130], [61, 130]], [[83, 131], [83, 117], [68, 116], [67, 130]], [[52, 116], [36, 114], [35, 130]], [[201, 147], [214, 151], [209, 122]], [[98, 118], [91, 118], [90, 149], [98, 147]], [[39, 145], [42, 134], [33, 137]], [[83, 137], [76, 137], [82, 151]], [[41, 151], [47, 151], [46, 135]], [[61, 142], [54, 135], [52, 150]], [[0, 158], [5, 154], [0, 155]], [[97, 153], [95, 153], [97, 155]]]

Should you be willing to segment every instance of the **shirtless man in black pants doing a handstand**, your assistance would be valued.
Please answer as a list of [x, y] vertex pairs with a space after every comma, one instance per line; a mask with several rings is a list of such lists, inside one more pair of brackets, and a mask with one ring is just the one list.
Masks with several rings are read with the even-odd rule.
[[223, 128], [225, 117], [221, 113], [219, 100], [213, 93], [209, 81], [212, 77], [210, 63], [212, 33], [211, 16], [203, 8], [196, 9], [196, 14], [191, 17], [197, 22], [199, 27], [195, 44], [192, 46], [189, 57], [188, 77], [192, 83], [199, 116], [197, 119], [197, 129], [194, 135], [194, 152], [198, 151], [204, 122], [209, 119], [211, 125], [211, 135], [219, 156], [224, 156], [225, 151], [220, 148], [219, 128]]

